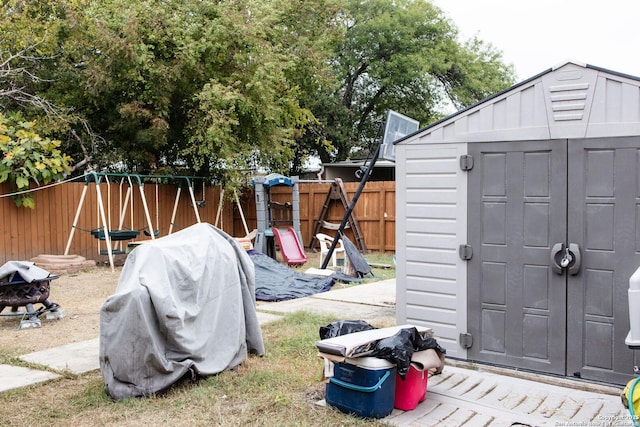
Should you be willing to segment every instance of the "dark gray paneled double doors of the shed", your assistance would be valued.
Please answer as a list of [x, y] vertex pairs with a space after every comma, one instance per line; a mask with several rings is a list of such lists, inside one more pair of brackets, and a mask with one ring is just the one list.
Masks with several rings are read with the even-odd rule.
[[624, 384], [640, 138], [469, 144], [472, 360]]

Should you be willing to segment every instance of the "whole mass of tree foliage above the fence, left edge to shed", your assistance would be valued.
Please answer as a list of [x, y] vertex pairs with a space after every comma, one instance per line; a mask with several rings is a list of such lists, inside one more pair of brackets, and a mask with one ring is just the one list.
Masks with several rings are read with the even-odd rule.
[[513, 79], [426, 0], [0, 4], [0, 113], [76, 173], [295, 174], [366, 150], [388, 109], [426, 125]]

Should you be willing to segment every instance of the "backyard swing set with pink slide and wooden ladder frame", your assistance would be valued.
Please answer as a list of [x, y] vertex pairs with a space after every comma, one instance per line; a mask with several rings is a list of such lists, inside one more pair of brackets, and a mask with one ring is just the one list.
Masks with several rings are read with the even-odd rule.
[[[196, 180], [202, 181], [203, 185], [200, 200], [196, 199]], [[238, 194], [234, 191], [233, 202], [237, 205], [245, 232], [243, 237], [237, 238], [245, 249], [255, 248], [257, 251], [276, 259], [277, 247], [285, 264], [291, 266], [306, 263], [307, 257], [304, 252], [302, 233], [300, 231], [299, 182], [297, 176], [287, 177], [280, 174], [269, 174], [254, 178], [257, 228], [253, 231], [249, 230]], [[168, 231], [160, 224], [160, 195], [158, 188], [161, 183], [177, 184]], [[160, 235], [170, 235], [174, 232], [178, 205], [185, 190], [195, 223], [202, 222], [199, 208], [203, 208], [206, 204], [204, 185], [204, 178], [200, 177], [107, 172], [88, 173], [84, 177], [84, 188], [69, 231], [64, 255], [61, 257], [70, 256], [69, 253], [76, 230], [88, 232], [97, 241], [98, 254], [107, 256], [109, 265], [114, 269], [114, 256], [126, 255], [146, 240], [155, 240]], [[152, 186], [151, 192], [148, 191], [150, 186]], [[291, 200], [286, 202], [272, 200], [270, 190], [275, 186], [291, 188]], [[86, 227], [80, 224], [80, 218], [83, 209], [86, 209], [87, 194], [90, 187], [93, 187], [96, 195], [97, 218], [92, 226]], [[224, 194], [225, 190], [222, 189], [215, 222], [213, 223], [216, 227], [219, 226], [222, 218]], [[134, 202], [134, 199], [138, 200], [138, 202]], [[315, 250], [319, 246], [322, 258], [324, 259], [325, 255], [328, 255], [333, 260], [333, 267], [335, 268], [337, 266], [336, 257], [334, 254], [328, 253], [328, 248], [333, 242], [333, 238], [325, 234], [338, 230], [337, 224], [326, 220], [329, 208], [333, 203], [341, 203], [345, 210], [349, 208], [349, 199], [340, 179], [336, 179], [331, 184], [322, 212], [316, 221], [309, 247]], [[142, 206], [142, 215], [139, 212], [135, 212], [138, 205]], [[140, 218], [143, 218], [143, 224], [140, 224]], [[351, 213], [345, 218], [345, 227], [353, 231], [358, 249], [366, 251], [367, 248], [357, 219]], [[165, 230], [164, 232], [163, 229]], [[144, 239], [138, 240], [140, 236], [143, 236]], [[320, 242], [318, 236], [327, 237], [322, 237], [322, 242]], [[342, 237], [342, 234], [337, 236], [337, 244], [340, 245], [337, 252], [344, 258], [344, 251], [340, 249]], [[253, 243], [252, 240], [254, 241]], [[327, 242], [329, 243], [328, 245]], [[340, 261], [340, 263], [344, 265], [344, 261]], [[323, 268], [326, 268], [326, 266]]]

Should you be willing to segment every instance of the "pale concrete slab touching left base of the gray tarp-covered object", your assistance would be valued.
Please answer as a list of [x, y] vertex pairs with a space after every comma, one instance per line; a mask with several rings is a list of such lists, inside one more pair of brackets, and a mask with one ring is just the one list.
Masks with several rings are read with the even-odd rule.
[[25, 354], [20, 356], [20, 359], [59, 371], [83, 374], [100, 369], [99, 354], [100, 343], [99, 339], [95, 338]]

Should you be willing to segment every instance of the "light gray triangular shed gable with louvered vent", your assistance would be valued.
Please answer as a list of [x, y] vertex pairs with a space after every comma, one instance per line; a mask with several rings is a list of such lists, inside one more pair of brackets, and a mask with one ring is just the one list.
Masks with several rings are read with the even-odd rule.
[[400, 144], [640, 135], [640, 78], [565, 62]]

